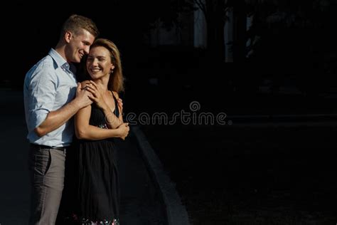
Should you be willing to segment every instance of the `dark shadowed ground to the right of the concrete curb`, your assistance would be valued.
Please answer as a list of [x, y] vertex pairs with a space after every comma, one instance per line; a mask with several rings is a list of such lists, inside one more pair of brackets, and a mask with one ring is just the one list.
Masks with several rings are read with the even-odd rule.
[[[309, 123], [308, 123], [309, 124]], [[146, 125], [192, 224], [336, 224], [337, 127]]]

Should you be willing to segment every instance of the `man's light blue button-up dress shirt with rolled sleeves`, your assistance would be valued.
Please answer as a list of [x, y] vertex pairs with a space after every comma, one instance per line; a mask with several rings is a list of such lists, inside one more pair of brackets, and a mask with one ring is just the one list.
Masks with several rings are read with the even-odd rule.
[[77, 80], [73, 68], [52, 48], [48, 56], [26, 74], [23, 95], [29, 142], [62, 147], [73, 141], [73, 119], [43, 137], [38, 137], [34, 132], [34, 128], [46, 120], [49, 112], [62, 108], [75, 98]]

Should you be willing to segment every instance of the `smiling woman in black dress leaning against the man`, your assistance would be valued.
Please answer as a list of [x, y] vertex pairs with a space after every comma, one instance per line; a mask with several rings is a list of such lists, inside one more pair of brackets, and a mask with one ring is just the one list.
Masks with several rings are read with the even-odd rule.
[[82, 83], [92, 95], [92, 105], [75, 115], [78, 138], [77, 197], [81, 224], [119, 224], [119, 182], [114, 138], [124, 140], [129, 132], [122, 120], [124, 90], [122, 66], [117, 47], [97, 39], [86, 61], [92, 80]]

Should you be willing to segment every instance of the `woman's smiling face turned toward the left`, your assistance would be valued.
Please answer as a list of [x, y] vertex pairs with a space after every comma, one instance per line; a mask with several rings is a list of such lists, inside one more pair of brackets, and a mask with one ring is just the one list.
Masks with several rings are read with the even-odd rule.
[[90, 49], [89, 55], [87, 56], [87, 71], [92, 80], [97, 80], [109, 75], [113, 68], [114, 66], [111, 63], [110, 53], [107, 48], [97, 46]]

